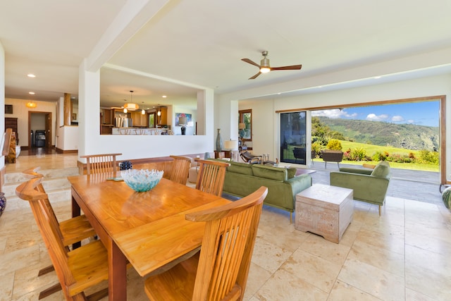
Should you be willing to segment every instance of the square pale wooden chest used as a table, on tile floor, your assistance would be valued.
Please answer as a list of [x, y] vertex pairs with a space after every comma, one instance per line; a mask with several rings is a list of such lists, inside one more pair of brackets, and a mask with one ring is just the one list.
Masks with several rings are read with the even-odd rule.
[[296, 195], [295, 228], [340, 242], [352, 221], [352, 189], [316, 184]]

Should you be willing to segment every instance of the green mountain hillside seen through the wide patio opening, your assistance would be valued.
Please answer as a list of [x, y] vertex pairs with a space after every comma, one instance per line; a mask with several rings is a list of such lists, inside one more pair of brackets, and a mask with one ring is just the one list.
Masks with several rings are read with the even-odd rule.
[[342, 135], [336, 139], [415, 150], [436, 151], [439, 147], [438, 127], [323, 116], [315, 118], [319, 118], [335, 135]]

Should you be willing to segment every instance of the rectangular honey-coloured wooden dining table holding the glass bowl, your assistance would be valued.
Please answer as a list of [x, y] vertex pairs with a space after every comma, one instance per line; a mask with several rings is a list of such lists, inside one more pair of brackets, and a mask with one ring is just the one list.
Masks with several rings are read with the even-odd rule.
[[[108, 251], [109, 300], [127, 300], [127, 264], [146, 276], [194, 252], [205, 223], [186, 221], [192, 211], [230, 202], [162, 178], [148, 192], [135, 192], [111, 173], [70, 176], [73, 216], [80, 209]], [[143, 288], [144, 289], [144, 288]]]

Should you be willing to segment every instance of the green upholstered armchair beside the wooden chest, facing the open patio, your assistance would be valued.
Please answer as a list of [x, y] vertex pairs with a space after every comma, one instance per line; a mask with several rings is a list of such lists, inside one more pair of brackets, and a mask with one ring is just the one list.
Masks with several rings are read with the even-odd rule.
[[390, 183], [390, 165], [386, 161], [379, 162], [371, 168], [340, 168], [330, 172], [330, 185], [354, 190], [354, 199], [379, 206], [385, 202], [388, 184]]

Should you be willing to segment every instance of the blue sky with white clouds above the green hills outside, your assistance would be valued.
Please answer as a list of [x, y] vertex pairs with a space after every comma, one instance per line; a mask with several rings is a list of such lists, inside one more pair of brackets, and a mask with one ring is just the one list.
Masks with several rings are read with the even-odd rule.
[[383, 121], [388, 123], [412, 123], [438, 127], [439, 102], [385, 104], [383, 106], [359, 106], [355, 108], [312, 111], [311, 116], [329, 118]]

